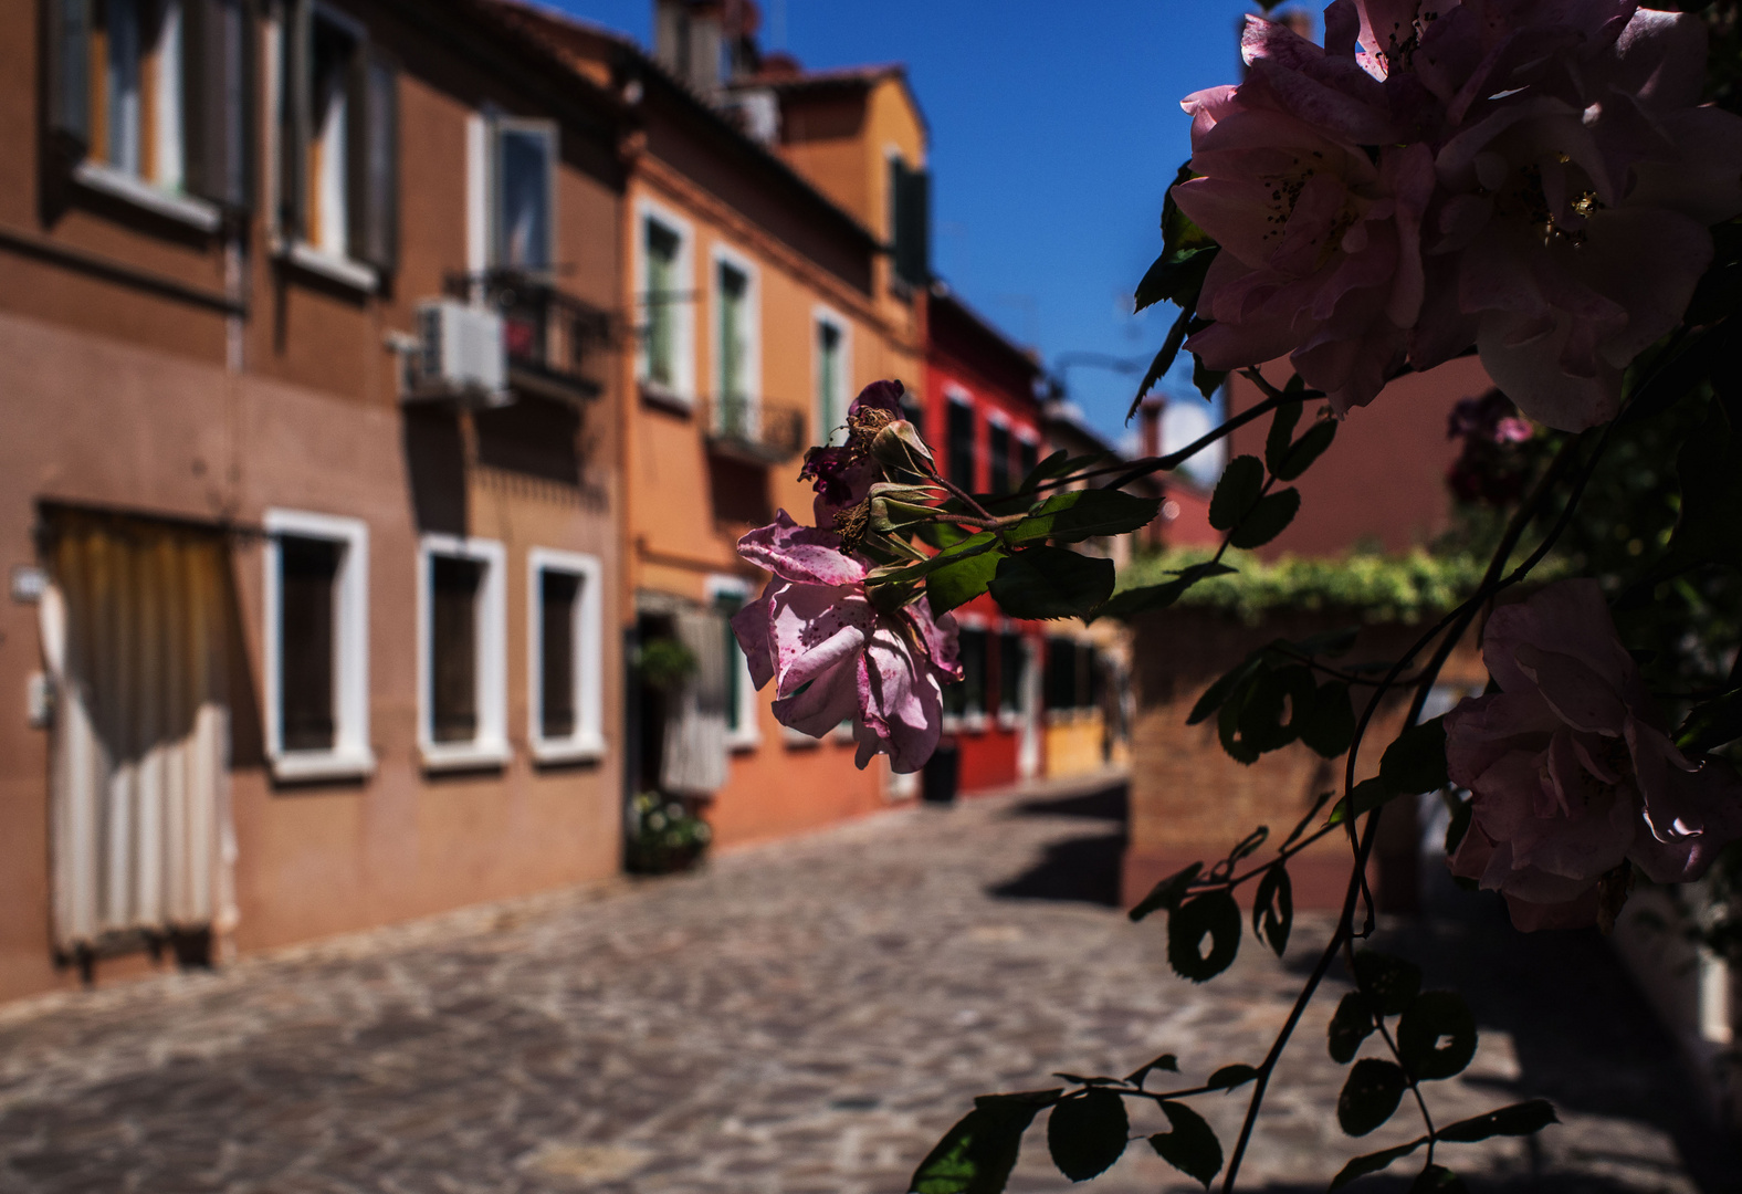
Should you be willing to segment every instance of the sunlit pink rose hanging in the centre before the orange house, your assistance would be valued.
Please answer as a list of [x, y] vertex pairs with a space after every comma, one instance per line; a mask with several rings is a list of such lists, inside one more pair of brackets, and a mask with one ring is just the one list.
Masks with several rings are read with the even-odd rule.
[[812, 737], [850, 718], [859, 767], [880, 753], [895, 772], [923, 767], [937, 748], [941, 685], [962, 678], [955, 619], [934, 621], [923, 600], [880, 612], [866, 594], [869, 565], [786, 511], [740, 539], [739, 554], [773, 573], [732, 631], [756, 687], [773, 680], [775, 718]]

